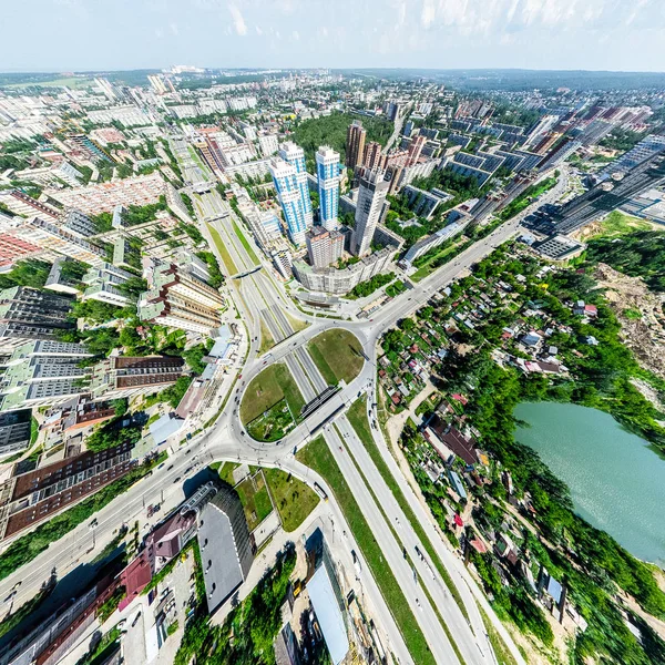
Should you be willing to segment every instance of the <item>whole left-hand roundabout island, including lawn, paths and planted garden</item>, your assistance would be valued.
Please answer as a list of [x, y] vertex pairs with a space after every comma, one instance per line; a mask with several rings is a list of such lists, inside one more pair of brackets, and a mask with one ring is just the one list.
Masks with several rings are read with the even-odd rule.
[[276, 362], [247, 386], [241, 421], [258, 441], [277, 441], [295, 426], [305, 400], [286, 365]]

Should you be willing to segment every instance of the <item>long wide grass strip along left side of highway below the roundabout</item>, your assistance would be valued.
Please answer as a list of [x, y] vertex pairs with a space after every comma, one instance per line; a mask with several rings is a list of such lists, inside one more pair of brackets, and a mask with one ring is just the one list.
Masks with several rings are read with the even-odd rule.
[[395, 617], [395, 622], [399, 627], [413, 662], [418, 663], [418, 665], [433, 665], [436, 663], [434, 657], [416, 621], [416, 616], [413, 616], [392, 571], [386, 566], [381, 549], [372, 536], [369, 524], [354, 499], [349, 485], [330, 450], [328, 450], [324, 438], [317, 437], [314, 441], [310, 441], [305, 448], [298, 451], [296, 458], [320, 473], [332, 488], [335, 498], [371, 569], [371, 573], [381, 590], [381, 595]]

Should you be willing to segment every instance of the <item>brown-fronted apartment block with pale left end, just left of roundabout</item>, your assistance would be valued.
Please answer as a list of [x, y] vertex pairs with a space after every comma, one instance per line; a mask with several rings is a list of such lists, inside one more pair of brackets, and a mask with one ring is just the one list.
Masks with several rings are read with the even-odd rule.
[[157, 392], [184, 372], [185, 361], [177, 357], [112, 357], [94, 366], [89, 391], [93, 399], [105, 400]]

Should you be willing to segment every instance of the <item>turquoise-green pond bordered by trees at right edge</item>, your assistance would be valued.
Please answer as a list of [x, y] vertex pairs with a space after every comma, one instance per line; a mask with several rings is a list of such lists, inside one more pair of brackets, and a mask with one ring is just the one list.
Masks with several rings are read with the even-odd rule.
[[644, 561], [665, 564], [665, 460], [603, 411], [524, 402], [515, 439], [571, 490], [575, 511]]

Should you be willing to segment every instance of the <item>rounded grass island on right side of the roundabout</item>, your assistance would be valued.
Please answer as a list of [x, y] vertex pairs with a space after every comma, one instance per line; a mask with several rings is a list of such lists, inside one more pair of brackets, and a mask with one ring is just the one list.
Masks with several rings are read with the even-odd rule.
[[339, 381], [349, 383], [360, 374], [365, 364], [365, 358], [360, 355], [362, 345], [348, 330], [326, 330], [311, 339], [308, 348], [313, 360], [330, 386]]

